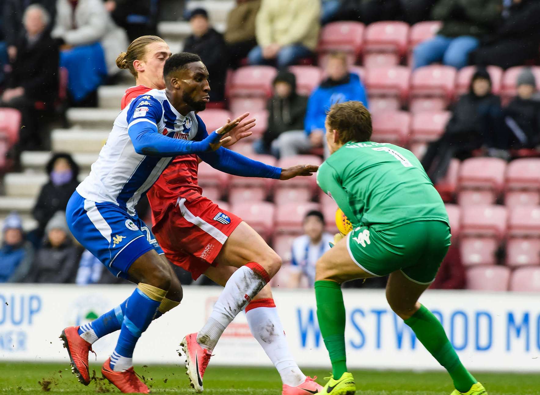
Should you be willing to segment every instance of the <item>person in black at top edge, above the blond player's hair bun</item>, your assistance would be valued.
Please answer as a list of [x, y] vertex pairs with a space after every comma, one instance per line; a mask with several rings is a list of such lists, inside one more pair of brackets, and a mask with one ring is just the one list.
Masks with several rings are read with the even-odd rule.
[[159, 1], [157, 0], [106, 0], [105, 9], [114, 23], [122, 26], [130, 42], [140, 36], [158, 33]]

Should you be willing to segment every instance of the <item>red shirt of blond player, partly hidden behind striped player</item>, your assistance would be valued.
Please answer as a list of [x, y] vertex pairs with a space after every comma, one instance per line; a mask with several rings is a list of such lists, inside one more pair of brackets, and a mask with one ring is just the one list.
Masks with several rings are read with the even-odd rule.
[[[152, 89], [144, 86], [132, 86], [128, 88], [122, 98], [122, 109], [131, 103], [131, 100]], [[169, 206], [175, 206], [178, 196], [185, 197], [188, 201], [195, 199], [203, 193], [203, 188], [198, 185], [197, 171], [199, 159], [197, 155], [176, 156], [161, 173], [158, 180], [146, 193], [150, 208], [152, 209], [152, 223], [156, 226], [167, 213]]]

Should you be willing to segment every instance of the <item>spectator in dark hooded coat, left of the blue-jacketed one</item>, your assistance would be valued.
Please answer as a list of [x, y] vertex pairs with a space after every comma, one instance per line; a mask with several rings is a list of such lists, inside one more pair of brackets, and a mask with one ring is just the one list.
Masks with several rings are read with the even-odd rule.
[[274, 78], [274, 96], [268, 99], [268, 129], [255, 141], [255, 152], [279, 156], [276, 144], [281, 133], [295, 131], [302, 136], [306, 117], [307, 97], [296, 93], [296, 77], [288, 71], [280, 71]]

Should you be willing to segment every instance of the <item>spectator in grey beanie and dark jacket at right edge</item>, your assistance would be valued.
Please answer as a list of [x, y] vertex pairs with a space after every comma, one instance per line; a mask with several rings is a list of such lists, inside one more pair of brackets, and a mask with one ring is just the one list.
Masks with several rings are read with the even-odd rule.
[[517, 77], [517, 96], [504, 108], [507, 139], [500, 148], [534, 149], [540, 145], [540, 93], [529, 68]]

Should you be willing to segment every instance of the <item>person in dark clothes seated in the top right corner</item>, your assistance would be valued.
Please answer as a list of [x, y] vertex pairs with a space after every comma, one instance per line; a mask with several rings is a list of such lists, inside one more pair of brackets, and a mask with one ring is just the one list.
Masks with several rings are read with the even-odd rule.
[[503, 11], [503, 21], [483, 39], [472, 58], [474, 64], [497, 65], [503, 69], [525, 64], [538, 58], [540, 45], [540, 2], [538, 0], [509, 0]]

